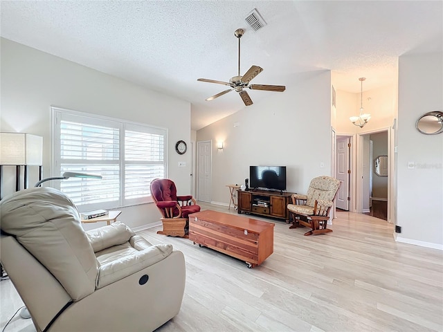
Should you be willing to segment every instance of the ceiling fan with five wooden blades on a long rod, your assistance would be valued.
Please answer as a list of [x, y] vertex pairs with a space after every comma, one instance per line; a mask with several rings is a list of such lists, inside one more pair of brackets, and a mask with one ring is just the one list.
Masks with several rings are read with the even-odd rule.
[[246, 106], [252, 105], [253, 102], [251, 100], [251, 97], [249, 97], [248, 93], [244, 91], [244, 89], [251, 89], [251, 90], [265, 90], [265, 91], [278, 91], [283, 92], [286, 89], [286, 86], [283, 85], [265, 85], [265, 84], [251, 84], [248, 85], [251, 80], [260, 74], [263, 71], [263, 68], [259, 66], [251, 66], [248, 71], [243, 76], [240, 76], [240, 38], [242, 38], [242, 35], [244, 35], [243, 29], [237, 29], [234, 32], [235, 37], [238, 38], [238, 74], [237, 76], [232, 77], [229, 82], [222, 82], [222, 81], [216, 81], [216, 80], [208, 80], [206, 78], [199, 78], [197, 81], [200, 82], [209, 82], [209, 83], [216, 83], [216, 84], [224, 84], [227, 86], [230, 86], [231, 89], [227, 89], [225, 91], [221, 91], [220, 93], [217, 93], [216, 95], [213, 95], [209, 98], [206, 98], [207, 101], [215, 100], [215, 98], [219, 98], [221, 95], [224, 95], [225, 93], [228, 93], [230, 91], [237, 91], [242, 98], [244, 104]]

